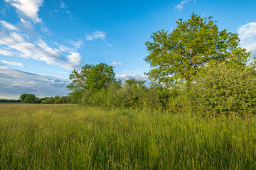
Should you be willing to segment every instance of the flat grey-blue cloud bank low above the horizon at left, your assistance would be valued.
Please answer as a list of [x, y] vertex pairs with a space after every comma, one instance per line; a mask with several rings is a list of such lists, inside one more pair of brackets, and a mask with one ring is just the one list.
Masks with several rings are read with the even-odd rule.
[[35, 94], [38, 97], [66, 95], [68, 83], [68, 79], [21, 72], [0, 64], [1, 98], [18, 98], [21, 94]]

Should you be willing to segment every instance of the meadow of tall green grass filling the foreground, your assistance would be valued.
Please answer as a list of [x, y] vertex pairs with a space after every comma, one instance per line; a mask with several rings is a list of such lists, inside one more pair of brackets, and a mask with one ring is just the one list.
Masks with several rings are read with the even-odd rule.
[[0, 169], [256, 169], [256, 123], [1, 104]]

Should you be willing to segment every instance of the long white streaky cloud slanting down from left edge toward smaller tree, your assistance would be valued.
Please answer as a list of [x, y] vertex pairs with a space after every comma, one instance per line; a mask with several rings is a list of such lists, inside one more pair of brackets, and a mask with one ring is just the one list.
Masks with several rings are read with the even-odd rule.
[[[50, 47], [41, 38], [32, 41], [28, 35], [4, 27], [2, 27], [0, 31], [0, 48], [1, 47], [9, 47], [11, 50], [15, 50], [18, 56], [41, 60], [47, 64], [58, 65], [65, 69], [80, 67], [80, 54], [74, 52], [73, 49], [65, 49], [65, 52], [70, 54], [65, 56], [61, 53], [61, 51], [64, 50], [60, 47]], [[2, 53], [6, 53], [6, 50], [2, 51]]]

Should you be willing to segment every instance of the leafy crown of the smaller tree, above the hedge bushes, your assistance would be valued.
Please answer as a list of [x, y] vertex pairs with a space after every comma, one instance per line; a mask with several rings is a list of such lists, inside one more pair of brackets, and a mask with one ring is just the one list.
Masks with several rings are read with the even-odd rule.
[[100, 91], [107, 89], [109, 84], [117, 83], [113, 67], [105, 63], [85, 64], [81, 69], [74, 69], [70, 80], [72, 82], [67, 86], [68, 90], [72, 91], [70, 94], [81, 94], [85, 90]]

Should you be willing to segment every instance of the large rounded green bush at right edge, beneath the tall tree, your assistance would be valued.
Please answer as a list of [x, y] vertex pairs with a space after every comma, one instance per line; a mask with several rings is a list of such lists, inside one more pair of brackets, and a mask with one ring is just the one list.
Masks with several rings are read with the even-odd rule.
[[256, 113], [255, 71], [225, 65], [206, 69], [193, 82], [191, 96], [195, 113], [245, 118]]

